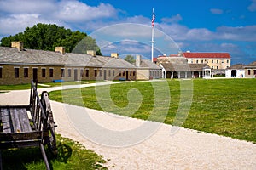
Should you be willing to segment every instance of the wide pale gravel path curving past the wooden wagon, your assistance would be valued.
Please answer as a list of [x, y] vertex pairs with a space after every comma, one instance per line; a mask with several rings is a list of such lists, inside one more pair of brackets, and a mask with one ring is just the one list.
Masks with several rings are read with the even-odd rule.
[[[27, 105], [28, 98], [29, 90], [12, 91], [0, 94], [0, 105]], [[51, 106], [58, 125], [56, 132], [102, 155], [108, 160], [109, 169], [256, 169], [256, 144], [184, 128], [172, 134], [173, 127], [170, 125], [115, 116], [55, 101], [51, 101]], [[104, 139], [106, 133], [94, 129], [94, 125], [85, 117], [90, 117], [95, 124], [112, 132], [126, 132], [145, 123], [157, 125], [158, 130], [138, 144], [114, 148], [97, 144], [95, 141], [99, 140], [86, 136], [91, 131]], [[119, 142], [122, 139], [109, 140]]]

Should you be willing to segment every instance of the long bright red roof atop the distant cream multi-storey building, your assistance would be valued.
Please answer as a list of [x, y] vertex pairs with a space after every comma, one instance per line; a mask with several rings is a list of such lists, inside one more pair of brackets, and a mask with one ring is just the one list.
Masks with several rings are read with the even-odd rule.
[[187, 59], [230, 59], [229, 53], [183, 53]]

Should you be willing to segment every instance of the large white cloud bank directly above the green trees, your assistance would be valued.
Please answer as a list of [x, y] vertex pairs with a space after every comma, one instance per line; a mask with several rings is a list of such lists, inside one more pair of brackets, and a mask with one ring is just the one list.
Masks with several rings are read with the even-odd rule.
[[94, 20], [115, 18], [118, 10], [110, 4], [89, 6], [79, 0], [1, 0], [0, 13], [0, 35], [5, 37], [40, 22], [67, 28], [87, 26], [87, 22], [96, 26]]

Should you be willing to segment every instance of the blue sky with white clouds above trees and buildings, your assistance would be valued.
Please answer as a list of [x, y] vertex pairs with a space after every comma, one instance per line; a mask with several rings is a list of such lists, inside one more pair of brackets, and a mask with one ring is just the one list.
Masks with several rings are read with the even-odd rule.
[[[256, 60], [256, 0], [0, 0], [0, 38], [38, 22], [55, 23], [89, 35], [102, 35], [98, 29], [106, 31], [108, 26], [108, 35], [122, 37], [114, 40], [119, 43], [101, 37], [108, 42], [102, 48], [103, 54], [115, 50], [121, 55], [143, 54], [149, 58], [152, 8], [156, 16], [155, 47], [160, 49], [155, 55], [175, 51], [162, 49], [157, 36], [161, 32], [173, 40], [166, 43], [175, 42], [182, 51], [229, 52], [232, 64]], [[127, 30], [125, 23], [134, 25]]]

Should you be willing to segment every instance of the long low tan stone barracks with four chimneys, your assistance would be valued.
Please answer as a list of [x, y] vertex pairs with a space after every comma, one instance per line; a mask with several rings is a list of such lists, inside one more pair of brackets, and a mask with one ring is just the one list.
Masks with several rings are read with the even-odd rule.
[[[160, 67], [153, 71], [148, 68], [148, 76], [144, 79], [159, 75], [159, 72]], [[32, 79], [38, 82], [136, 80], [137, 66], [120, 59], [117, 53], [105, 57], [94, 51], [65, 53], [62, 47], [55, 48], [55, 52], [24, 49], [22, 42], [13, 42], [12, 48], [0, 47], [0, 84], [30, 83]]]

